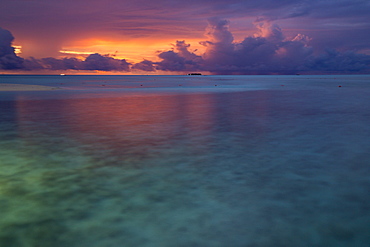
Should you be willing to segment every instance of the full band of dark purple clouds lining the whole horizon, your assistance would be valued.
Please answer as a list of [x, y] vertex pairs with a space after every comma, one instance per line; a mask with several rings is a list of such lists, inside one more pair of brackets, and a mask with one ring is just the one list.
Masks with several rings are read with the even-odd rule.
[[98, 53], [77, 58], [27, 58], [14, 53], [12, 34], [0, 29], [0, 69], [75, 71], [208, 71], [212, 74], [369, 73], [370, 56], [355, 51], [326, 49], [317, 52], [313, 39], [304, 34], [286, 37], [280, 26], [256, 21], [256, 33], [235, 41], [229, 21], [211, 18], [205, 31], [205, 50], [192, 50], [185, 40], [158, 54], [159, 62], [147, 59], [131, 64]]

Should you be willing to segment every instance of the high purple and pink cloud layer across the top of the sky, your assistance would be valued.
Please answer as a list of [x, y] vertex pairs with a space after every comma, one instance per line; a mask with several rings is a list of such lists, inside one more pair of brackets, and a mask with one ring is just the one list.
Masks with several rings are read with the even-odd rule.
[[[369, 49], [368, 0], [110, 0], [109, 4], [101, 0], [89, 0], [88, 4], [85, 0], [2, 0], [2, 3], [1, 23], [16, 34], [17, 43], [27, 57], [55, 56], [62, 47], [88, 39], [167, 42], [179, 37], [200, 38], [204, 19], [215, 16], [240, 23], [234, 24], [239, 31], [246, 29], [243, 26], [246, 20], [279, 20], [286, 28], [310, 32], [322, 50], [326, 46]], [[350, 31], [361, 31], [362, 35], [353, 40], [352, 35], [347, 35]], [[340, 38], [327, 44], [334, 35]]]

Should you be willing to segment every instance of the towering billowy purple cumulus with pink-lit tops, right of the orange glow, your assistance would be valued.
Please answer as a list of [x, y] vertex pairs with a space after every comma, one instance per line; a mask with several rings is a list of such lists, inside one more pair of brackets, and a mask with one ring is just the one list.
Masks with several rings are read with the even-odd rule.
[[258, 32], [241, 42], [234, 42], [229, 22], [210, 19], [206, 29], [206, 47], [202, 56], [190, 52], [189, 45], [177, 41], [174, 51], [159, 54], [163, 60], [159, 70], [210, 71], [216, 74], [291, 73], [304, 68], [312, 55], [309, 38], [297, 35], [285, 39], [279, 26], [269, 22], [257, 23]]

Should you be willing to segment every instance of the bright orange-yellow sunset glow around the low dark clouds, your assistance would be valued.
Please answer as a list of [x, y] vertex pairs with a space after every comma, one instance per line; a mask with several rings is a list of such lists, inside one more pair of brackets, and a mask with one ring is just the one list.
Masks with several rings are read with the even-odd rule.
[[[199, 44], [199, 39], [175, 39], [175, 40], [148, 40], [148, 39], [137, 39], [136, 41], [120, 41], [120, 40], [102, 40], [102, 39], [81, 39], [74, 42], [68, 42], [63, 45], [60, 50], [56, 52], [55, 56], [43, 56], [36, 57], [41, 59], [44, 57], [54, 57], [57, 59], [62, 58], [77, 58], [84, 61], [89, 55], [98, 53], [103, 56], [109, 56], [115, 59], [125, 59], [131, 65], [142, 62], [143, 60], [149, 60], [152, 62], [160, 62], [162, 59], [158, 57], [161, 52], [166, 52], [176, 49], [176, 41], [185, 40], [186, 44], [189, 44], [188, 50], [199, 56], [205, 52], [204, 46]], [[28, 58], [26, 52], [23, 53], [23, 44], [17, 43], [13, 45], [15, 53], [23, 58]], [[27, 48], [27, 47], [25, 47]], [[49, 74], [59, 75], [65, 73], [67, 75], [137, 75], [137, 74], [161, 74], [161, 75], [178, 75], [184, 74], [178, 71], [141, 71], [132, 69], [130, 71], [94, 71], [94, 70], [26, 70], [26, 71], [15, 71], [7, 72], [7, 74]], [[206, 73], [206, 72], [204, 72]], [[185, 73], [186, 74], [186, 73]]]

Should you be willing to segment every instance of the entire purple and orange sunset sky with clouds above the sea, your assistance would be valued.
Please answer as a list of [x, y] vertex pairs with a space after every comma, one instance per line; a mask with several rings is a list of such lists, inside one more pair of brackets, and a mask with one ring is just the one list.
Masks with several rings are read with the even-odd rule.
[[370, 73], [369, 0], [1, 0], [1, 73]]

